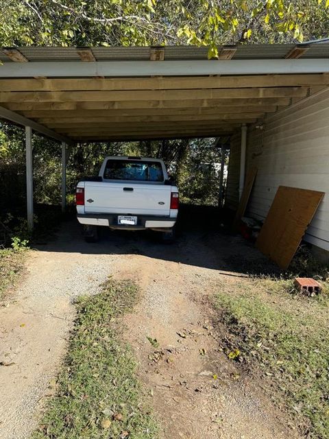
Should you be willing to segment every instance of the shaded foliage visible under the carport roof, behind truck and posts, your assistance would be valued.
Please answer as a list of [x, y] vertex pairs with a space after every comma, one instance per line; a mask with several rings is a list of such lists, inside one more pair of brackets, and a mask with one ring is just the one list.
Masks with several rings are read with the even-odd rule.
[[[34, 199], [37, 204], [60, 204], [61, 147], [34, 134]], [[95, 176], [103, 159], [110, 155], [163, 158], [173, 180], [178, 182], [182, 201], [217, 205], [221, 148], [215, 139], [85, 143], [69, 150], [66, 167], [67, 200], [74, 204], [77, 182]], [[227, 158], [226, 158], [227, 161]], [[29, 239], [25, 212], [25, 143], [21, 128], [2, 123], [0, 127], [1, 220], [15, 236]], [[10, 217], [8, 217], [10, 215]], [[38, 222], [38, 218], [35, 218]], [[42, 224], [40, 224], [42, 226]]]

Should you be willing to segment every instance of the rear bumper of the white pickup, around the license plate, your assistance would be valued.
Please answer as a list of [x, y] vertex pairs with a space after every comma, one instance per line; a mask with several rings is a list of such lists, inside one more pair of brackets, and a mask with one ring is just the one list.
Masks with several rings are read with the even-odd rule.
[[[90, 226], [106, 226], [115, 229], [143, 230], [150, 229], [167, 229], [175, 225], [176, 219], [155, 215], [136, 215], [137, 224], [135, 226], [118, 224], [119, 214], [103, 214], [103, 213], [86, 213], [77, 214], [77, 220], [80, 224], [88, 224]], [[121, 214], [120, 214], [121, 215]], [[127, 214], [128, 215], [128, 214]]]

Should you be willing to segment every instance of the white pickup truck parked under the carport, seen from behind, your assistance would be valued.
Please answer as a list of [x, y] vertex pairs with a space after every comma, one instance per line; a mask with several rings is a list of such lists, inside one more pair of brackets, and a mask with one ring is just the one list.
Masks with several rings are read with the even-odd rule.
[[88, 242], [97, 241], [97, 226], [157, 230], [173, 239], [178, 189], [158, 158], [106, 157], [98, 177], [77, 184], [75, 199]]

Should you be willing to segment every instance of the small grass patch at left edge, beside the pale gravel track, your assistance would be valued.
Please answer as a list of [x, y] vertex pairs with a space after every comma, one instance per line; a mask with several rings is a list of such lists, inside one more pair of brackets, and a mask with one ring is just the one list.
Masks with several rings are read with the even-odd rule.
[[3, 300], [8, 288], [19, 278], [24, 259], [24, 251], [15, 252], [10, 248], [0, 250], [0, 300]]

